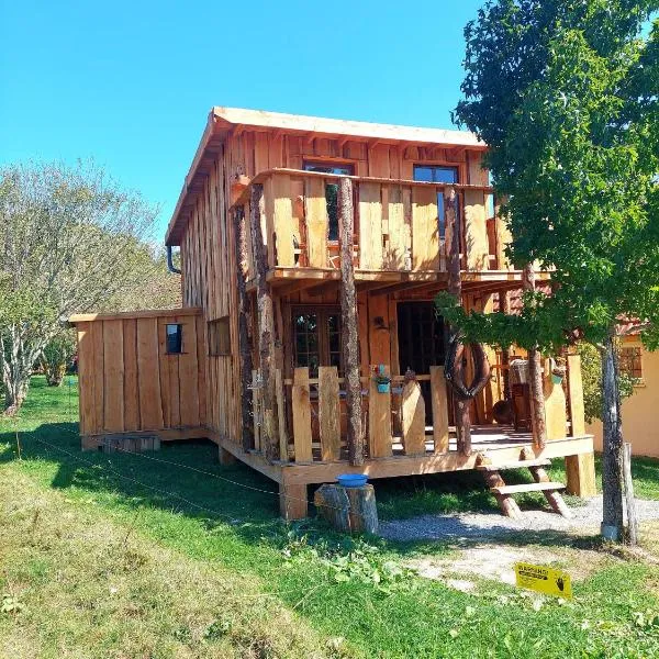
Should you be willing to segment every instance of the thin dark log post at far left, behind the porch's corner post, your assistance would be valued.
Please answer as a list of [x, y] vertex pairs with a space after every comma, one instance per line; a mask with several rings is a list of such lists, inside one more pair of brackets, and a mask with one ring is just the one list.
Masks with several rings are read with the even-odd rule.
[[254, 416], [252, 414], [252, 304], [247, 295], [247, 228], [245, 211], [234, 212], [236, 235], [236, 268], [238, 276], [238, 350], [241, 353], [241, 414], [243, 418], [243, 449], [254, 446]]

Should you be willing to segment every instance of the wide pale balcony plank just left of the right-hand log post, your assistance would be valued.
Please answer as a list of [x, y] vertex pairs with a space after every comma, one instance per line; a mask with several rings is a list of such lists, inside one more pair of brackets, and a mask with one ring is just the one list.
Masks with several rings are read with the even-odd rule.
[[439, 269], [439, 231], [435, 188], [412, 188], [412, 269]]

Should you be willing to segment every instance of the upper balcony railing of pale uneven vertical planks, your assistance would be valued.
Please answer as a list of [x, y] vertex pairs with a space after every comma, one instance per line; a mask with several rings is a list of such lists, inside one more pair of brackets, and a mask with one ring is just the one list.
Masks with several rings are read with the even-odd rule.
[[[249, 216], [249, 188], [263, 185], [261, 231], [269, 267], [339, 268], [335, 225], [338, 176], [271, 169], [238, 190], [234, 208]], [[505, 236], [494, 217], [492, 188], [349, 177], [354, 182], [354, 265], [360, 270], [446, 271], [442, 196], [458, 193], [462, 269], [503, 269]], [[249, 276], [254, 273], [248, 254]]]

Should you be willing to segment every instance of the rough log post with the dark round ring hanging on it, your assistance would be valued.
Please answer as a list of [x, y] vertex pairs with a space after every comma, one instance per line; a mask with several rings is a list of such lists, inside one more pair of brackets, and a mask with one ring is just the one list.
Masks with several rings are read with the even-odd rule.
[[[458, 196], [455, 188], [444, 190], [444, 213], [446, 227], [450, 235], [450, 249], [448, 253], [448, 292], [455, 297], [457, 304], [462, 304], [462, 281], [460, 279], [460, 227], [458, 224]], [[450, 328], [450, 340], [458, 340], [457, 330]], [[460, 367], [461, 368], [461, 367]], [[471, 416], [469, 406], [471, 401], [459, 395], [454, 395], [456, 417], [456, 439], [458, 453], [463, 456], [471, 455]]]

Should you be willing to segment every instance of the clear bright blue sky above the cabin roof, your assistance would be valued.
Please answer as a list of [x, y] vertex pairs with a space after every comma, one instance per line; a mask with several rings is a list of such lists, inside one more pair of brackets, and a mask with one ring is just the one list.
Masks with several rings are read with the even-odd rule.
[[450, 127], [480, 4], [0, 0], [0, 163], [93, 157], [163, 235], [212, 105]]

